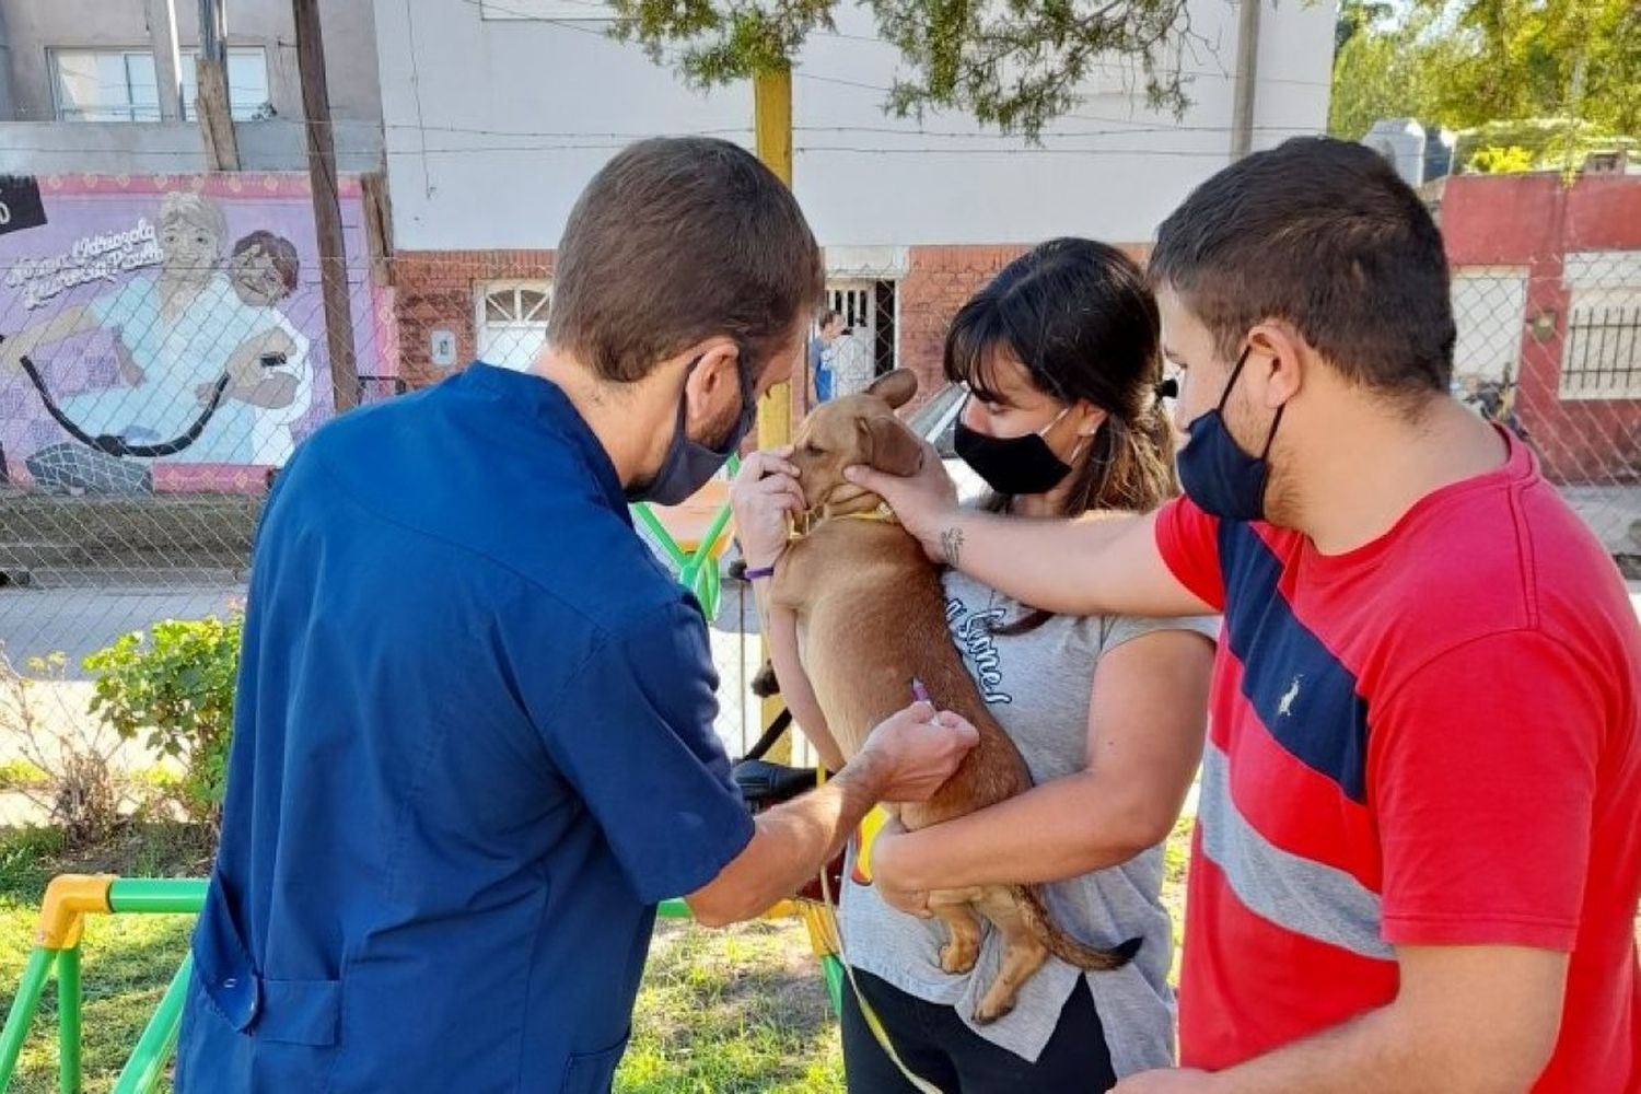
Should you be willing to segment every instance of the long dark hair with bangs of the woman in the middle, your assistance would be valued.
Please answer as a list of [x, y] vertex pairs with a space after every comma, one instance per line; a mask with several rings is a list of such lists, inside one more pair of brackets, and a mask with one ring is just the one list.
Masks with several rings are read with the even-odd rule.
[[[1004, 266], [958, 310], [944, 367], [978, 399], [1001, 400], [991, 369], [1004, 353], [1044, 395], [1104, 410], [1104, 423], [1076, 454], [1060, 515], [1147, 512], [1180, 489], [1173, 426], [1157, 395], [1160, 341], [1157, 299], [1139, 264], [1104, 243], [1062, 238]], [[993, 494], [985, 507], [1006, 512], [1011, 502]], [[998, 633], [1024, 633], [1050, 617], [1034, 610]]]

